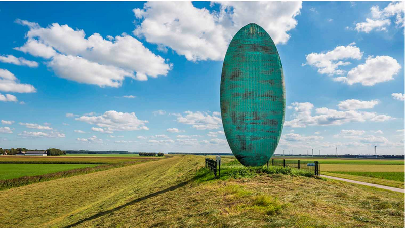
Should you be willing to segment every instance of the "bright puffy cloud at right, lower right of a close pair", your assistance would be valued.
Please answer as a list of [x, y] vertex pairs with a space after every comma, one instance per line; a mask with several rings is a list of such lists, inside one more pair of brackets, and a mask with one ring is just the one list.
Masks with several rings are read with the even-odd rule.
[[347, 77], [335, 78], [335, 81], [349, 85], [361, 83], [363, 86], [373, 86], [377, 83], [393, 80], [401, 65], [390, 56], [369, 56], [365, 64], [360, 64], [347, 73]]

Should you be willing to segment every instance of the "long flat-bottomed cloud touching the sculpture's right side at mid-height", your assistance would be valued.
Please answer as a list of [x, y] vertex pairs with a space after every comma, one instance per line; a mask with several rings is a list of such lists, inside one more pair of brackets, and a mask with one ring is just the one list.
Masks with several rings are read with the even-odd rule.
[[351, 122], [383, 122], [394, 119], [387, 115], [378, 115], [375, 112], [348, 110], [338, 111], [326, 107], [316, 108], [317, 115], [312, 116], [313, 104], [294, 102], [291, 104], [294, 108], [291, 121], [286, 121], [286, 127], [305, 128], [306, 126], [328, 126], [328, 125], [342, 125]]

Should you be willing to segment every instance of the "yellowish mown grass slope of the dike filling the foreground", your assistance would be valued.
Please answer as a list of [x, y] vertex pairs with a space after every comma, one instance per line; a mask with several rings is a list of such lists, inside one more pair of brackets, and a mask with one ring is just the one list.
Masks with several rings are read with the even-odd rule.
[[[403, 194], [282, 174], [208, 180], [201, 156], [0, 192], [5, 227], [403, 227]], [[211, 174], [211, 173], [210, 173]], [[212, 175], [212, 174], [211, 174]], [[41, 213], [38, 213], [41, 211]], [[22, 213], [23, 212], [23, 213]]]

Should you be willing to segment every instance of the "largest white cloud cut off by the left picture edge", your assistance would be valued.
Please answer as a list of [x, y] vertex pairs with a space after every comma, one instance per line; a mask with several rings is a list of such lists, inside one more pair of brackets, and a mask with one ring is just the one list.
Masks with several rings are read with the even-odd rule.
[[7, 69], [0, 69], [0, 91], [35, 93], [36, 89], [32, 85], [19, 83], [15, 75]]

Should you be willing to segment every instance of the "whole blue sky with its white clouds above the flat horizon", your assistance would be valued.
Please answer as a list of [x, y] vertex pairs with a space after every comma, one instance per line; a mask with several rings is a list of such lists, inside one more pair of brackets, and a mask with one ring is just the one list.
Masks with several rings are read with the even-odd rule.
[[284, 67], [276, 153], [404, 154], [403, 2], [2, 2], [0, 147], [230, 152], [219, 86], [262, 26]]

